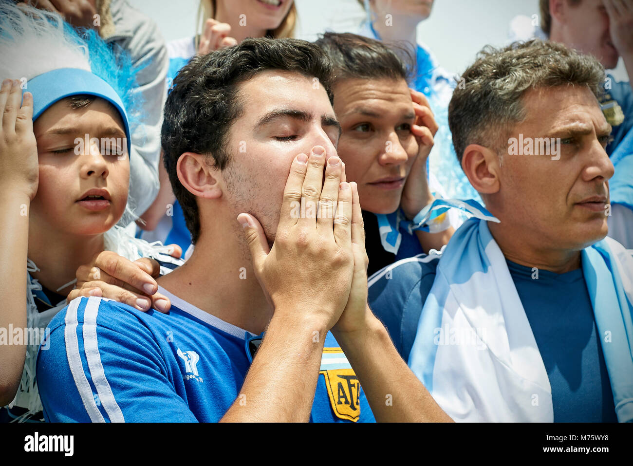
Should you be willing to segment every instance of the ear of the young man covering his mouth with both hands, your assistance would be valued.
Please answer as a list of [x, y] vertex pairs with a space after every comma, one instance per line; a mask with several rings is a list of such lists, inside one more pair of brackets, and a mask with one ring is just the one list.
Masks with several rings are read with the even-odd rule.
[[176, 173], [182, 186], [198, 198], [216, 199], [222, 196], [220, 170], [206, 163], [206, 156], [193, 152], [180, 154]]

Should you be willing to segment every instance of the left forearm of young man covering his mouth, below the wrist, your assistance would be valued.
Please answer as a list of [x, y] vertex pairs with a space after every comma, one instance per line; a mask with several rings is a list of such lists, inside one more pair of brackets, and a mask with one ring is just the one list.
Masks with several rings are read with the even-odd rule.
[[298, 313], [297, 309], [275, 311], [244, 385], [222, 422], [310, 420], [327, 329]]

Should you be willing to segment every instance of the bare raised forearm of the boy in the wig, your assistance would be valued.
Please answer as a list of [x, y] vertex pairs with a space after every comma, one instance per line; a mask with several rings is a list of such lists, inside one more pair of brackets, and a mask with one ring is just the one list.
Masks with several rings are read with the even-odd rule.
[[[28, 210], [26, 194], [5, 187], [0, 196], [3, 253], [0, 255], [0, 329], [27, 326]], [[11, 334], [8, 334], [11, 338]], [[10, 342], [7, 342], [10, 343]], [[13, 400], [24, 367], [24, 344], [0, 344], [0, 406]]]

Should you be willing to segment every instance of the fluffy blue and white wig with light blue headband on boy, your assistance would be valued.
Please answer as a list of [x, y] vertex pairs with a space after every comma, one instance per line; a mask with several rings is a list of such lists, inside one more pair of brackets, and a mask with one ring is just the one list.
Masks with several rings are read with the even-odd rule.
[[[56, 13], [0, 0], [0, 51], [0, 79], [20, 79], [23, 91], [33, 93], [34, 120], [56, 101], [82, 93], [113, 103], [132, 129], [139, 124], [140, 105], [130, 92], [137, 70], [94, 30], [76, 30]], [[82, 84], [85, 80], [94, 87]], [[53, 94], [51, 87], [65, 95]]]

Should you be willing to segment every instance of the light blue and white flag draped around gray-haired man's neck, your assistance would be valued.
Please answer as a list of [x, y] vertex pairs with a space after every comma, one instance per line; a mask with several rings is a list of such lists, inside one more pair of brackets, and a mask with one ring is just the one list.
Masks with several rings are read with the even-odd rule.
[[[609, 237], [581, 254], [615, 412], [630, 422], [633, 257]], [[409, 366], [456, 421], [553, 422], [548, 374], [486, 220], [468, 219], [444, 249]]]

